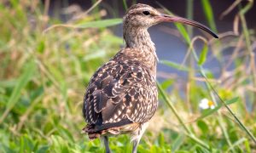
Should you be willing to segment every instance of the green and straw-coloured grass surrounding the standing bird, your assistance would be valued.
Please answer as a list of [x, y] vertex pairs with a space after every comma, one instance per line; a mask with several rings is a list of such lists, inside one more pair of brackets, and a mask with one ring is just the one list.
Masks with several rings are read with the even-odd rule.
[[[218, 41], [206, 41], [177, 25], [188, 54], [182, 64], [160, 63], [185, 71], [188, 78], [168, 77], [158, 84], [160, 106], [139, 152], [256, 150], [255, 31], [247, 28], [245, 18], [252, 3], [239, 6], [239, 35], [227, 31], [219, 33]], [[193, 3], [188, 4], [187, 14], [193, 18]], [[208, 24], [217, 31], [211, 3], [201, 4]], [[49, 18], [38, 1], [11, 0], [0, 4], [0, 12], [0, 152], [103, 152], [99, 139], [89, 141], [80, 133], [85, 124], [81, 106], [94, 71], [123, 44], [106, 28], [121, 20], [101, 20], [101, 11], [94, 11], [63, 25]], [[203, 46], [196, 48], [200, 54], [193, 47], [198, 41]], [[230, 56], [220, 54], [226, 48], [233, 49]], [[218, 78], [204, 68], [210, 58], [221, 65]], [[204, 98], [216, 109], [199, 109]], [[131, 152], [127, 135], [110, 142], [114, 152]]]

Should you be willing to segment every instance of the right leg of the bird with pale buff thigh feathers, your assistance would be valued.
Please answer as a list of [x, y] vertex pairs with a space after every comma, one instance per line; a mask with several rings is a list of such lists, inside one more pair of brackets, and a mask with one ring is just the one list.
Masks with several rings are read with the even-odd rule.
[[133, 141], [132, 145], [132, 153], [137, 153], [137, 146], [140, 143], [140, 140], [145, 132], [146, 128], [148, 127], [148, 122], [144, 122], [137, 128], [137, 130], [132, 134], [131, 141]]

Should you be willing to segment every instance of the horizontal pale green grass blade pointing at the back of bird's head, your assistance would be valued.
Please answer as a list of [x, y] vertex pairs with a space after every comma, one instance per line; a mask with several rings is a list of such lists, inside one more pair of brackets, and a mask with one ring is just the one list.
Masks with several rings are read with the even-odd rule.
[[81, 22], [75, 25], [78, 28], [101, 28], [101, 27], [108, 27], [108, 26], [115, 26], [122, 23], [121, 18], [110, 19], [110, 20], [94, 20], [94, 21], [86, 21]]

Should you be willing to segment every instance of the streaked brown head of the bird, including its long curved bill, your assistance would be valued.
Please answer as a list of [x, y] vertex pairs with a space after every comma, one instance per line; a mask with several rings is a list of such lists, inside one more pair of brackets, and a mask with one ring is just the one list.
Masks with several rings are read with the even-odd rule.
[[182, 24], [195, 26], [203, 31], [207, 31], [213, 37], [218, 38], [218, 36], [213, 31], [211, 31], [209, 28], [207, 28], [207, 26], [204, 26], [201, 23], [177, 16], [161, 14], [155, 8], [152, 8], [151, 6], [142, 3], [132, 5], [131, 8], [127, 10], [127, 13], [124, 17], [124, 28], [128, 26], [137, 28], [148, 28], [161, 22], [179, 22]]

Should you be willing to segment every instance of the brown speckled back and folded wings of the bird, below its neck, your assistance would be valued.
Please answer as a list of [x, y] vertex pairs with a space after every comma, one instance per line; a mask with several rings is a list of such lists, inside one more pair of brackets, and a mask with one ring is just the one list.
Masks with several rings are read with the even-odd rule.
[[[125, 50], [126, 49], [126, 50]], [[155, 76], [124, 48], [96, 71], [84, 95], [83, 113], [90, 139], [103, 134], [129, 133], [154, 115]]]

